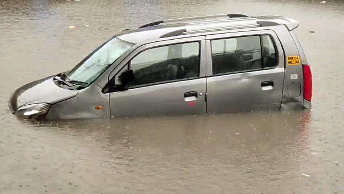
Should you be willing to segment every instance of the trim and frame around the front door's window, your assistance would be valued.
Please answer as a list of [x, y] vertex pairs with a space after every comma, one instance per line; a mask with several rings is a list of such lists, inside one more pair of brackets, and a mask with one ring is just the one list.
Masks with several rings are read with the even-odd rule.
[[[204, 37], [204, 36], [203, 36]], [[197, 38], [197, 37], [196, 37]], [[160, 84], [167, 84], [167, 83], [173, 83], [173, 82], [178, 82], [178, 81], [186, 81], [186, 80], [193, 80], [193, 79], [201, 79], [201, 78], [205, 78], [205, 76], [201, 75], [201, 68], [202, 68], [202, 46], [205, 45], [205, 40], [204, 39], [198, 39], [198, 40], [185, 40], [185, 41], [181, 41], [181, 42], [172, 42], [172, 43], [164, 43], [164, 44], [159, 44], [159, 45], [155, 45], [155, 46], [151, 46], [151, 47], [146, 47], [143, 48], [142, 50], [139, 50], [135, 55], [133, 55], [132, 57], [130, 57], [130, 55], [128, 56], [128, 58], [130, 58], [125, 65], [123, 65], [111, 78], [109, 77], [109, 81], [107, 86], [105, 86], [105, 88], [109, 87], [109, 83], [111, 80], [113, 80], [118, 74], [119, 72], [121, 72], [123, 70], [123, 68], [125, 68], [126, 66], [128, 66], [128, 70], [129, 70], [129, 64], [131, 62], [131, 60], [133, 58], [135, 58], [137, 55], [139, 55], [141, 52], [148, 50], [148, 49], [153, 49], [153, 48], [158, 48], [158, 47], [164, 47], [164, 46], [171, 46], [171, 45], [179, 45], [179, 44], [184, 44], [184, 43], [193, 43], [193, 42], [197, 42], [198, 43], [198, 76], [197, 77], [191, 77], [191, 78], [183, 78], [183, 79], [173, 79], [173, 80], [166, 80], [166, 81], [159, 81], [159, 82], [154, 82], [154, 83], [149, 83], [149, 84], [142, 84], [142, 85], [136, 85], [136, 86], [129, 86], [128, 89], [135, 89], [135, 88], [142, 88], [142, 87], [148, 87], [148, 86], [154, 86], [154, 85], [160, 85]], [[144, 46], [144, 45], [143, 45]], [[206, 52], [205, 46], [204, 46], [204, 54]], [[205, 57], [203, 57], [205, 58]], [[126, 58], [127, 59], [127, 58]], [[123, 61], [126, 61], [126, 59], [124, 59]], [[122, 62], [123, 62], [122, 61]], [[121, 62], [121, 63], [122, 63]], [[129, 63], [129, 64], [128, 64]], [[119, 64], [121, 65], [121, 64]], [[110, 76], [110, 75], [109, 75]], [[103, 88], [104, 90], [104, 88]], [[105, 90], [104, 90], [105, 91]], [[116, 91], [114, 91], [116, 92]], [[107, 92], [107, 93], [112, 93], [112, 92]]]

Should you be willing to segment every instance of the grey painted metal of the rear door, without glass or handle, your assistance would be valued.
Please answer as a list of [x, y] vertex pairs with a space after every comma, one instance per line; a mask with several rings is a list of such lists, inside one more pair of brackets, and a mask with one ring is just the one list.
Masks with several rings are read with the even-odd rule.
[[[207, 78], [208, 113], [232, 111], [279, 109], [282, 100], [284, 77], [284, 55], [278, 37], [272, 30], [256, 30], [249, 32], [224, 33], [206, 36], [207, 70], [212, 71], [210, 41], [218, 38], [230, 38], [252, 35], [270, 35], [276, 43], [278, 66], [273, 69], [240, 72], [228, 75], [213, 75]], [[209, 65], [210, 63], [210, 65]], [[262, 88], [264, 81], [273, 81], [274, 86]]]

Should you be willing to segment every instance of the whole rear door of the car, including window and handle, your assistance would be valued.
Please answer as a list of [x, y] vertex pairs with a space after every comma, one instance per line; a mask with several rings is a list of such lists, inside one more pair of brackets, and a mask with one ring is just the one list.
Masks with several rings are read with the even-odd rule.
[[279, 109], [284, 54], [272, 30], [206, 36], [208, 113]]

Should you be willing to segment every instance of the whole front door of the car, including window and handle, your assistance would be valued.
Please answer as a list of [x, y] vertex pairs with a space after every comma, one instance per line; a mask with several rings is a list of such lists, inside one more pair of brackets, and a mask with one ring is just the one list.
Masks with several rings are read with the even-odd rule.
[[134, 74], [128, 90], [110, 92], [111, 116], [205, 114], [205, 64], [204, 36], [139, 47], [109, 76], [121, 85], [122, 72]]

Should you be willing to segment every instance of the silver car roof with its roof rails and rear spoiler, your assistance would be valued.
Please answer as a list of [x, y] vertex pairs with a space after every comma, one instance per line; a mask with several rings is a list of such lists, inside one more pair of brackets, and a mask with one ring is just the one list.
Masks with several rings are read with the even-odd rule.
[[299, 23], [293, 19], [281, 16], [250, 17], [243, 14], [220, 14], [211, 16], [197, 16], [155, 21], [137, 29], [127, 29], [117, 37], [121, 40], [139, 43], [149, 39], [159, 39], [185, 34], [214, 32], [228, 29], [252, 28], [264, 26], [284, 25], [293, 30]]

